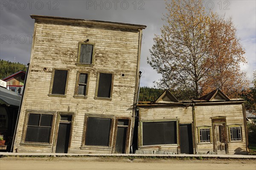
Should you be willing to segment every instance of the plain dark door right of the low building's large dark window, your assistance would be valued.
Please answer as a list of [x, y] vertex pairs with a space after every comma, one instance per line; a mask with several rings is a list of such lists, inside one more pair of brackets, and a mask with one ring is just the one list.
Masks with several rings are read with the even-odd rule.
[[180, 153], [193, 154], [191, 124], [180, 125]]

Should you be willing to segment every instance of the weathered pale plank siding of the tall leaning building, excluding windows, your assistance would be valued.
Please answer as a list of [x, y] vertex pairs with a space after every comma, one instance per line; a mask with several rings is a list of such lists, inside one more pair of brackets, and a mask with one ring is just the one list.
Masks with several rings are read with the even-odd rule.
[[[14, 149], [17, 148], [19, 152], [55, 152], [53, 144], [41, 147], [20, 144], [25, 113], [28, 110], [52, 111], [57, 115], [58, 111], [70, 111], [75, 113], [70, 153], [111, 153], [112, 148], [80, 149], [84, 118], [87, 114], [122, 117], [133, 115], [140, 36], [140, 30], [124, 26], [115, 28], [81, 22], [36, 20], [26, 94], [21, 107]], [[76, 66], [79, 42], [87, 39], [95, 43], [94, 66]], [[44, 71], [44, 68], [47, 70]], [[65, 98], [48, 96], [53, 68], [70, 69]], [[90, 73], [87, 99], [73, 97], [78, 71]], [[114, 73], [111, 101], [94, 99], [98, 71]], [[56, 124], [56, 120], [53, 123]], [[55, 127], [56, 125], [52, 129], [54, 132]], [[128, 136], [131, 139], [131, 134]], [[52, 141], [54, 139], [55, 133]], [[113, 140], [110, 145], [113, 145]]]

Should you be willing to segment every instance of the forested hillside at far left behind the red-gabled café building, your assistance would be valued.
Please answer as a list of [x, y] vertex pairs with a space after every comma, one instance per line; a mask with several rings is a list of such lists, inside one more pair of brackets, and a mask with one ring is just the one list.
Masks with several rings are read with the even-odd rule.
[[0, 79], [8, 77], [18, 71], [26, 71], [26, 65], [0, 59]]

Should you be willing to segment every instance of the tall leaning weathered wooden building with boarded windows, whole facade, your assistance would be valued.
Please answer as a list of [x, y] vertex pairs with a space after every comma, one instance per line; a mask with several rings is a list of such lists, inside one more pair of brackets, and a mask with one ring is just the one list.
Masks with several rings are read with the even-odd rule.
[[130, 153], [146, 26], [31, 17], [14, 151]]

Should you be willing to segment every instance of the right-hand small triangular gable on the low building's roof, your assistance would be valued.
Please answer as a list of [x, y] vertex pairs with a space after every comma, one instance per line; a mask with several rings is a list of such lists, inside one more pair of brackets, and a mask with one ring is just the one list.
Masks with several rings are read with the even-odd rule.
[[226, 94], [224, 94], [220, 89], [217, 88], [216, 90], [198, 98], [197, 100], [230, 100], [230, 98], [228, 98]]

